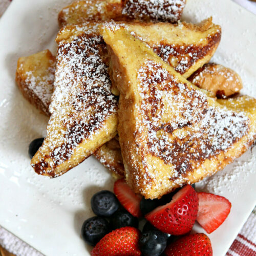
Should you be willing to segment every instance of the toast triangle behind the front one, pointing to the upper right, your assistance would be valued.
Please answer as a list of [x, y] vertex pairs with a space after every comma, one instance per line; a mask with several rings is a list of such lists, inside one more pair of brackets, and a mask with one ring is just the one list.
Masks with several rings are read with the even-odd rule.
[[[185, 78], [207, 63], [221, 40], [221, 27], [207, 18], [199, 24], [118, 23], [150, 46], [165, 62]], [[112, 69], [110, 69], [112, 72]], [[110, 73], [112, 78], [112, 73]], [[112, 79], [112, 93], [119, 95]]]

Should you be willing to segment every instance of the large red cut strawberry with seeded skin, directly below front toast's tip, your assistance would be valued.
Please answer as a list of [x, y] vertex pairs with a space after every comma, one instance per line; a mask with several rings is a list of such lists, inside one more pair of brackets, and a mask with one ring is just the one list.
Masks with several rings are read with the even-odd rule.
[[179, 190], [169, 203], [159, 206], [145, 218], [156, 228], [176, 236], [190, 231], [196, 221], [198, 197], [190, 185]]

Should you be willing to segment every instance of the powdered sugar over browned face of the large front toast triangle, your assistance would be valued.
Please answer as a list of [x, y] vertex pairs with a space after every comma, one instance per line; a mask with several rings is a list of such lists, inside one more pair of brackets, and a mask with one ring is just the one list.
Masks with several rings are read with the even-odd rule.
[[[138, 136], [135, 142], [139, 144], [138, 154], [142, 150], [144, 155], [154, 155], [174, 166], [172, 176], [159, 180], [161, 168], [154, 166], [154, 162], [150, 164], [145, 157], [145, 190], [151, 189], [152, 179], [156, 187], [161, 186], [164, 179], [179, 185], [189, 182], [188, 172], [200, 169], [205, 159], [225, 152], [248, 133], [249, 120], [245, 114], [209, 105], [202, 92], [189, 89], [154, 61], [144, 63], [138, 80], [141, 121], [137, 120], [135, 134], [144, 136]], [[154, 169], [158, 172], [152, 172]], [[209, 169], [208, 173], [215, 171]]]

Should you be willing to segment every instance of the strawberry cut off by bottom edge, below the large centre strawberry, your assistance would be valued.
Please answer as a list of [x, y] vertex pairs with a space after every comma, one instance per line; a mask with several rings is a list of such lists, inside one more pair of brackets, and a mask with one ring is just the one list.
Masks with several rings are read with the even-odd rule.
[[206, 234], [189, 234], [169, 244], [164, 253], [166, 256], [212, 256], [211, 242]]

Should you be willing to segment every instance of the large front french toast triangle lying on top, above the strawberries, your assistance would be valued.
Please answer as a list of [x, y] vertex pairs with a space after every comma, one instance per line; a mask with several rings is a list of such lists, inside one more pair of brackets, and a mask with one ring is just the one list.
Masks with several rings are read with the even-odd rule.
[[160, 198], [216, 173], [253, 143], [249, 111], [207, 97], [119, 25], [106, 23], [101, 33], [120, 91], [126, 181], [136, 193]]

